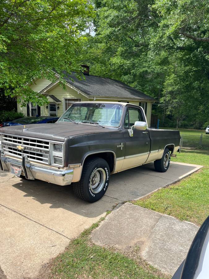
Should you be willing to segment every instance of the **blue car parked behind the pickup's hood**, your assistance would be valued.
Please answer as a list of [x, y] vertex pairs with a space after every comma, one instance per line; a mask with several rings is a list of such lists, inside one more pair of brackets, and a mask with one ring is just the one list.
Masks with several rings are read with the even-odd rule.
[[16, 119], [13, 121], [4, 121], [2, 124], [0, 124], [1, 127], [7, 127], [7, 126], [15, 126], [15, 125], [24, 125], [24, 124], [43, 124], [43, 123], [55, 123], [59, 117], [54, 116], [30, 116], [30, 117], [24, 117], [20, 119]]

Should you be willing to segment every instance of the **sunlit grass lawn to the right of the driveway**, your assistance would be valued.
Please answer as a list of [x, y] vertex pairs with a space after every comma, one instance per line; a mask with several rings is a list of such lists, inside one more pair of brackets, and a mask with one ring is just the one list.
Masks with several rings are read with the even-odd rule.
[[133, 203], [201, 225], [209, 215], [209, 150], [181, 150], [171, 160], [204, 167], [180, 182]]

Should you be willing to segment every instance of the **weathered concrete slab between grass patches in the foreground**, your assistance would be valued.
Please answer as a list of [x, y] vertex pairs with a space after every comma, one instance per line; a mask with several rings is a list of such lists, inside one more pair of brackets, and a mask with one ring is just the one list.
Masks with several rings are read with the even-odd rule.
[[117, 206], [91, 233], [100, 246], [139, 246], [148, 263], [173, 275], [185, 259], [199, 227], [131, 203]]

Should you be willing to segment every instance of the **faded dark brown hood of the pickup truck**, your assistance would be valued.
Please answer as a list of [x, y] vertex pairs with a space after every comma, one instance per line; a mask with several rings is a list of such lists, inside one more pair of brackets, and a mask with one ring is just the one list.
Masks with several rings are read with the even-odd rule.
[[66, 137], [112, 131], [111, 128], [99, 127], [93, 124], [74, 124], [74, 123], [54, 123], [54, 124], [30, 124], [9, 126], [0, 128], [0, 134], [20, 135], [22, 137], [33, 137], [40, 139], [49, 139], [64, 141]]

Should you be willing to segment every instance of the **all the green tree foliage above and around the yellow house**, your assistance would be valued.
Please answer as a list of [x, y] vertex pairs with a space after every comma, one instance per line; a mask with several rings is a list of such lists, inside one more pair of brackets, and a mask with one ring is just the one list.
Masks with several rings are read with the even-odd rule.
[[[209, 115], [208, 0], [3, 0], [0, 88], [26, 102], [25, 85], [55, 68], [119, 79], [156, 98], [154, 111], [201, 127]], [[94, 21], [95, 36], [87, 33]], [[163, 105], [163, 106], [161, 106]], [[162, 109], [163, 108], [163, 109]]]

